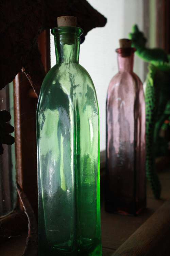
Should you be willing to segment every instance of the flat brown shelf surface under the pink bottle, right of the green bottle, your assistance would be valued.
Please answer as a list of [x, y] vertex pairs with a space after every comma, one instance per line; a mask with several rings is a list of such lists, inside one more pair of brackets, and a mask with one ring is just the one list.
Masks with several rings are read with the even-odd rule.
[[[159, 178], [162, 183], [161, 199], [154, 199], [149, 183], [147, 183], [147, 209], [141, 212], [139, 216], [122, 216], [117, 214], [106, 213], [104, 210], [103, 197], [104, 186], [102, 186], [101, 184], [101, 226], [103, 256], [112, 255], [136, 230], [138, 230], [138, 228], [142, 224], [144, 224], [147, 221], [149, 217], [153, 215], [153, 213], [155, 213], [155, 211], [157, 211], [167, 200], [170, 200], [170, 171], [167, 170], [165, 172], [159, 173]], [[104, 181], [103, 178], [101, 180]], [[156, 225], [159, 225], [159, 222]], [[129, 256], [131, 254], [120, 255]], [[136, 256], [136, 254], [132, 255]], [[156, 254], [153, 255], [156, 256]], [[164, 256], [164, 254], [161, 255]], [[167, 255], [170, 254], [165, 254], [165, 256]]]

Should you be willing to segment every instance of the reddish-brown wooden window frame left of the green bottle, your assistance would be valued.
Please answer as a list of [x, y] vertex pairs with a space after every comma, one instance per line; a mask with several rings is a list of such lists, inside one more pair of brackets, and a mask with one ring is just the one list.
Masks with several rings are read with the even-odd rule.
[[[45, 30], [39, 35], [38, 47], [47, 73], [50, 69], [50, 30]], [[27, 195], [37, 218], [36, 108], [38, 99], [27, 77], [21, 71], [16, 75], [13, 84], [16, 181]], [[0, 218], [1, 242], [27, 230], [28, 219], [18, 197], [15, 210]]]

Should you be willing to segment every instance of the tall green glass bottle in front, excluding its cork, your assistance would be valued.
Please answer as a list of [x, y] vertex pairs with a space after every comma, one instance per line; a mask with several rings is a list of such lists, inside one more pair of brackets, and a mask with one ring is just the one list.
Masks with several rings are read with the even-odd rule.
[[38, 256], [102, 255], [99, 110], [74, 26], [52, 29], [56, 65], [37, 107]]

